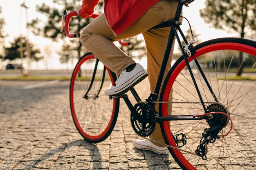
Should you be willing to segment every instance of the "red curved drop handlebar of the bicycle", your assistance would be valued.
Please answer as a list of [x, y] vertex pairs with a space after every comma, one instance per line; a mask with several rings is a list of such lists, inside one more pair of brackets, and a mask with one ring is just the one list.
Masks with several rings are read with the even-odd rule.
[[[74, 16], [78, 16], [78, 14], [76, 13], [76, 11], [71, 11], [69, 13], [67, 13], [67, 10], [63, 11], [63, 16], [62, 16], [62, 26], [61, 26], [61, 32], [63, 31], [63, 28], [65, 30], [65, 33], [67, 35], [67, 37], [69, 38], [77, 38], [78, 35], [76, 33], [70, 33], [70, 19]], [[97, 18], [99, 16], [99, 14], [92, 14], [91, 18]], [[130, 42], [122, 42], [121, 40], [118, 41], [119, 44], [123, 45], [123, 46], [128, 46], [130, 45]]]

